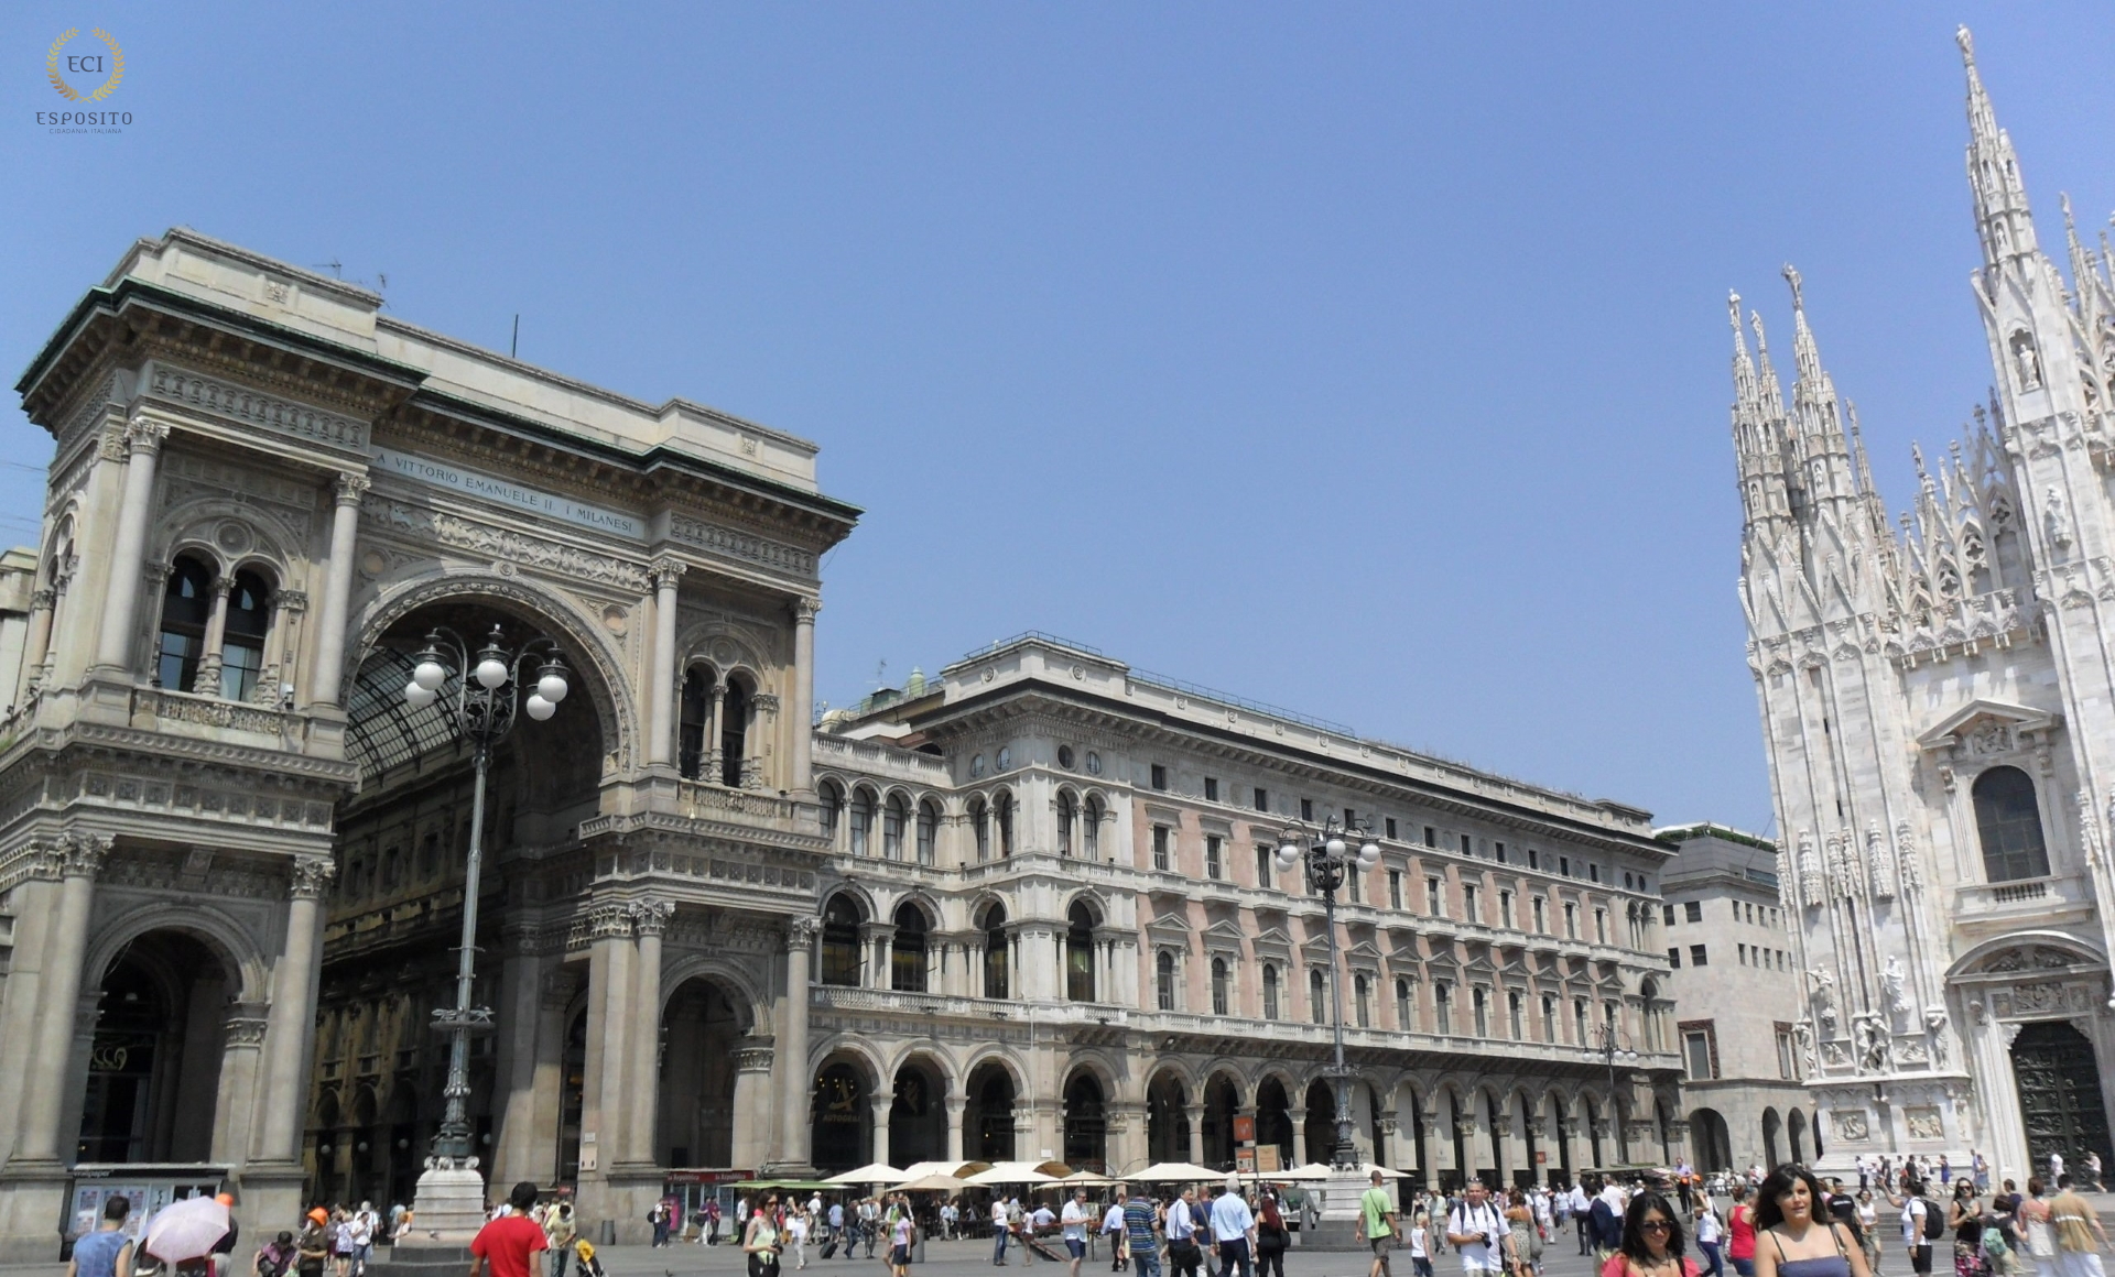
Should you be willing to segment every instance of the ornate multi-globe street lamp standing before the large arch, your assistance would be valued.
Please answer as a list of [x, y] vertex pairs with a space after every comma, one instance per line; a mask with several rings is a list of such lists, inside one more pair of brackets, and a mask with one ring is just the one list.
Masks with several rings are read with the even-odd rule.
[[[533, 691], [522, 700], [525, 670], [535, 660], [541, 664], [531, 683]], [[470, 1034], [493, 1028], [491, 1008], [470, 1004], [470, 985], [478, 966], [484, 774], [491, 770], [493, 746], [514, 727], [516, 708], [541, 723], [558, 712], [558, 702], [565, 700], [567, 691], [571, 687], [565, 681], [565, 660], [550, 638], [531, 638], [522, 643], [520, 651], [508, 651], [505, 634], [497, 624], [476, 658], [470, 655], [470, 645], [455, 630], [434, 628], [425, 636], [425, 651], [417, 658], [410, 683], [404, 685], [404, 702], [415, 710], [440, 702], [440, 712], [448, 715], [455, 729], [470, 740], [476, 761], [476, 784], [470, 797], [470, 858], [463, 865], [463, 947], [455, 964], [455, 1006], [434, 1008], [434, 1028], [448, 1034], [448, 1085], [442, 1091], [448, 1108], [440, 1118], [440, 1135], [434, 1137], [434, 1156], [427, 1161], [427, 1169], [476, 1167], [470, 1161]]]

